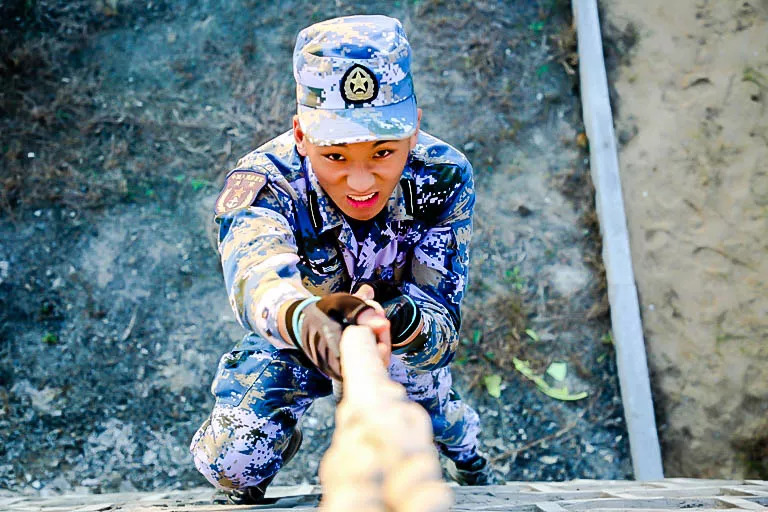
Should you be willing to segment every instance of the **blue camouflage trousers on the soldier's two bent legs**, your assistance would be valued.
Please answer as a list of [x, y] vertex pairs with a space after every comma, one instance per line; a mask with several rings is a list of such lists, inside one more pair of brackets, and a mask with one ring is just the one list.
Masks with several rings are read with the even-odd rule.
[[[451, 388], [449, 368], [414, 370], [393, 356], [389, 375], [427, 411], [443, 454], [456, 462], [475, 456], [480, 422]], [[297, 422], [316, 398], [331, 394], [332, 384], [295, 350], [249, 335], [221, 358], [211, 391], [216, 404], [190, 450], [214, 486], [242, 489], [280, 469]]]

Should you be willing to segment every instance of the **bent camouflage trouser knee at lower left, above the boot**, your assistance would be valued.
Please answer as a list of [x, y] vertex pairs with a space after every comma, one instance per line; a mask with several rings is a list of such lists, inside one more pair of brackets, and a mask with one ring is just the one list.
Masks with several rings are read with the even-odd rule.
[[275, 474], [295, 425], [280, 416], [217, 404], [189, 447], [198, 471], [219, 489], [250, 487]]

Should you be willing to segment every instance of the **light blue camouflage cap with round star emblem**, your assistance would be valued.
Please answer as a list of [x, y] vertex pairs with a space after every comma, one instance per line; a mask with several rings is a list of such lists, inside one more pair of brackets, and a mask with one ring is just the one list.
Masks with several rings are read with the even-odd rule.
[[305, 28], [293, 76], [299, 123], [313, 144], [398, 140], [416, 131], [411, 46], [394, 18], [347, 16]]

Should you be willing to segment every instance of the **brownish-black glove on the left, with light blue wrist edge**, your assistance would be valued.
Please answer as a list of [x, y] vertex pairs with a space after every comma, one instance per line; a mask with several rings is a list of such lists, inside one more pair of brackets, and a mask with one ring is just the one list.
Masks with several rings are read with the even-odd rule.
[[285, 326], [293, 344], [313, 365], [341, 380], [341, 333], [366, 309], [372, 308], [349, 293], [309, 297], [288, 306]]

